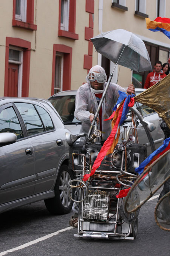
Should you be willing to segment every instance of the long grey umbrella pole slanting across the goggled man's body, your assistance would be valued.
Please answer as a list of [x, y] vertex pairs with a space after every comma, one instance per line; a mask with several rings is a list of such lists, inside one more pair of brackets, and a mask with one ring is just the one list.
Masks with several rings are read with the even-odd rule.
[[[123, 53], [125, 47], [126, 47], [126, 46], [124, 46], [124, 48], [123, 48], [123, 50], [122, 50], [122, 52], [121, 52], [121, 54], [120, 54], [120, 56], [119, 56], [119, 59], [121, 58], [121, 55], [122, 55], [122, 53]], [[119, 59], [117, 60], [115, 66], [114, 66], [114, 69], [116, 68], [116, 65], [117, 65]], [[114, 69], [113, 69], [112, 73], [111, 73], [110, 76], [109, 76], [109, 79], [108, 79], [108, 81], [107, 81], [107, 85], [106, 85], [105, 90], [104, 90], [104, 92], [103, 92], [103, 94], [102, 94], [102, 98], [100, 99], [100, 103], [99, 103], [98, 108], [97, 108], [97, 110], [96, 110], [96, 113], [95, 113], [95, 115], [94, 115], [94, 118], [93, 118], [93, 121], [92, 121], [92, 123], [91, 123], [90, 129], [89, 129], [89, 131], [88, 131], [88, 138], [90, 138], [91, 132], [92, 132], [93, 127], [94, 127], [94, 125], [95, 125], [97, 116], [98, 116], [98, 114], [99, 114], [100, 108], [101, 108], [102, 103], [103, 103], [103, 101], [104, 101], [104, 98], [105, 98], [105, 95], [106, 95], [106, 93], [107, 93], [108, 87], [109, 87], [109, 85], [110, 85], [111, 79], [112, 79], [112, 77], [113, 77]]]

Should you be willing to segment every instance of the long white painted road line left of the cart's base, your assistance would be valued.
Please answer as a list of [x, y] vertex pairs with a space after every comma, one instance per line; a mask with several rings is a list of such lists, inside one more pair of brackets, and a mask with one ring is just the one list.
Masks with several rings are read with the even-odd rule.
[[39, 243], [40, 241], [43, 241], [43, 240], [45, 240], [45, 239], [48, 239], [49, 237], [56, 236], [56, 235], [58, 235], [59, 233], [62, 233], [62, 232], [64, 232], [64, 231], [67, 231], [67, 230], [72, 229], [72, 228], [73, 228], [73, 227], [64, 228], [64, 229], [58, 230], [58, 231], [56, 231], [56, 232], [54, 232], [54, 233], [51, 233], [51, 234], [49, 234], [49, 235], [40, 237], [40, 238], [38, 238], [38, 239], [36, 239], [36, 240], [33, 240], [33, 241], [31, 241], [31, 242], [24, 243], [23, 245], [20, 245], [20, 246], [18, 246], [18, 247], [12, 248], [12, 249], [7, 250], [7, 251], [3, 251], [2, 253], [0, 253], [0, 256], [3, 256], [3, 255], [5, 255], [5, 254], [7, 254], [7, 253], [12, 253], [13, 251], [18, 251], [18, 250], [20, 250], [20, 249], [23, 249], [23, 248], [25, 248], [25, 247], [28, 247], [28, 246], [30, 246], [30, 245], [33, 245], [34, 243]]

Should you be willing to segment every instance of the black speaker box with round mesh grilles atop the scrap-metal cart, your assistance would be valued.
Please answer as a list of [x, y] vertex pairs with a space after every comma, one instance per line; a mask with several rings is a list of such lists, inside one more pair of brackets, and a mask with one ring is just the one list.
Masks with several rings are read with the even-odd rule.
[[[70, 147], [69, 155], [69, 169], [71, 170], [83, 170], [83, 154], [81, 149], [83, 148], [83, 142], [79, 141], [74, 143]], [[85, 154], [85, 168], [88, 170], [90, 163], [93, 165], [99, 154], [102, 145], [100, 143], [88, 143], [86, 145], [87, 153]], [[132, 143], [126, 148], [126, 163], [127, 171], [130, 173], [135, 173], [135, 168], [140, 165], [141, 162], [147, 157], [147, 146], [144, 144]], [[99, 168], [97, 170], [107, 170], [107, 171], [119, 171], [121, 170], [122, 161], [122, 151], [119, 149], [114, 149], [112, 154], [106, 155], [102, 160]]]

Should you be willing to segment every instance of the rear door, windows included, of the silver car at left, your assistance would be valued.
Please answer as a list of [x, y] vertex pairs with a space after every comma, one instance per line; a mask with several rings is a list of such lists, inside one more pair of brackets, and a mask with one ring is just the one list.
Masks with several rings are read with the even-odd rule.
[[[66, 155], [65, 132], [57, 114], [42, 105], [17, 103], [35, 153], [34, 194], [50, 190], [56, 181], [61, 160]], [[23, 116], [22, 113], [26, 113]], [[53, 118], [53, 121], [52, 119]]]

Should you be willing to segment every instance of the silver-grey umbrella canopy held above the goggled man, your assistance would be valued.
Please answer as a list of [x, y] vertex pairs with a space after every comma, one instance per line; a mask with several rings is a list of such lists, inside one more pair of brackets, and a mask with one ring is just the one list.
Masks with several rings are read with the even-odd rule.
[[152, 70], [148, 51], [138, 36], [124, 29], [116, 29], [91, 38], [97, 52], [115, 64], [134, 71]]

